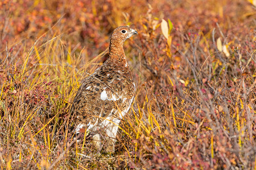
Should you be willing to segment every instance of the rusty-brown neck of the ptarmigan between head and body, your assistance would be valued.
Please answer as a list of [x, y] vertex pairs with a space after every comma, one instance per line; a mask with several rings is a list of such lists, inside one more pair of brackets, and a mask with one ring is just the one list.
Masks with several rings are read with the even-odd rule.
[[123, 50], [123, 42], [122, 41], [110, 41], [109, 45], [109, 58], [121, 61], [123, 63], [127, 63], [125, 57], [125, 51]]

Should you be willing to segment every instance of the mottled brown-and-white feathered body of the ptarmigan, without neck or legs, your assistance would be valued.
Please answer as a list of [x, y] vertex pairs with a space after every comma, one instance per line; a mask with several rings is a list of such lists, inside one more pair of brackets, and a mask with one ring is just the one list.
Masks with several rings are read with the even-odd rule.
[[84, 80], [73, 101], [79, 122], [94, 125], [115, 117], [122, 119], [133, 101], [135, 86], [130, 73], [119, 72], [114, 63], [105, 62]]

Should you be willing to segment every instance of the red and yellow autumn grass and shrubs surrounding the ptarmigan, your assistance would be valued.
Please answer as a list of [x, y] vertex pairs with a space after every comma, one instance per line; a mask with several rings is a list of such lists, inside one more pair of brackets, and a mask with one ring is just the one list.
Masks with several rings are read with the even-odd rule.
[[[23, 0], [0, 8], [1, 169], [256, 169], [249, 2]], [[88, 138], [76, 143], [67, 115], [81, 80], [105, 61], [110, 32], [126, 24], [139, 32], [124, 45], [137, 92], [109, 154]]]

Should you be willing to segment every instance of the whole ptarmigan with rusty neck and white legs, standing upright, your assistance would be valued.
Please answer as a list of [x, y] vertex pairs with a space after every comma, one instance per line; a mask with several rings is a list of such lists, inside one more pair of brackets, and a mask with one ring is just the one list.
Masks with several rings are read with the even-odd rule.
[[93, 134], [96, 147], [114, 152], [115, 136], [122, 117], [134, 100], [135, 84], [123, 51], [123, 42], [138, 32], [127, 26], [114, 29], [110, 37], [108, 59], [82, 82], [72, 105], [76, 133], [85, 129]]

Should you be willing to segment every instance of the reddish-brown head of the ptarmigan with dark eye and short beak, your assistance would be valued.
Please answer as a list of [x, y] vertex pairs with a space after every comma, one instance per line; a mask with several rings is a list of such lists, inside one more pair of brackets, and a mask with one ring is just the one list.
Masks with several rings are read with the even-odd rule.
[[129, 39], [133, 35], [137, 35], [138, 32], [134, 29], [131, 29], [128, 26], [121, 26], [114, 29], [111, 40], [112, 41], [119, 41], [119, 42], [125, 42], [125, 40]]

